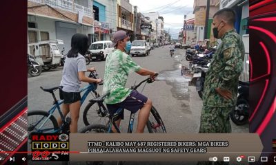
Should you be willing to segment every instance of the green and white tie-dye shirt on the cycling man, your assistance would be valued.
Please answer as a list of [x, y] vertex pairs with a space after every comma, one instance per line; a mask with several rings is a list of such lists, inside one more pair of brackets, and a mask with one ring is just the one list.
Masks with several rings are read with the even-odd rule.
[[106, 97], [106, 104], [117, 104], [124, 101], [130, 94], [130, 89], [126, 88], [126, 81], [130, 72], [137, 72], [141, 69], [128, 54], [121, 50], [114, 50], [106, 58], [104, 72], [103, 94], [108, 91], [110, 95]]

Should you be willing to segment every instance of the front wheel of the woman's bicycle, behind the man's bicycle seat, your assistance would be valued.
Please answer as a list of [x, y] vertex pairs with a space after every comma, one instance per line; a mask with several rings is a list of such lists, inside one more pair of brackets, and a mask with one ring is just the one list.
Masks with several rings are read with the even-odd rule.
[[83, 122], [86, 126], [92, 124], [106, 125], [108, 117], [106, 113], [103, 113], [103, 109], [106, 109], [103, 104], [97, 102], [89, 102], [83, 111]]

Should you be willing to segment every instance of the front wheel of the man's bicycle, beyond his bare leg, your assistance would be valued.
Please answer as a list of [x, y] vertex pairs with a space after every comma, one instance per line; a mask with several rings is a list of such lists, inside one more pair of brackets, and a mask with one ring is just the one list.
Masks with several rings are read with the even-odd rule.
[[149, 133], [167, 133], [163, 120], [153, 106], [150, 110], [150, 117], [148, 118], [146, 126], [148, 127]]

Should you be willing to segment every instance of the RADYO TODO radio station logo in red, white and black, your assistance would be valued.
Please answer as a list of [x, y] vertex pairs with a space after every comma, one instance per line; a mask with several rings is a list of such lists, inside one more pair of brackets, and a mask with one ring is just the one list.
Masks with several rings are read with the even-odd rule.
[[69, 161], [69, 135], [32, 133], [32, 161]]

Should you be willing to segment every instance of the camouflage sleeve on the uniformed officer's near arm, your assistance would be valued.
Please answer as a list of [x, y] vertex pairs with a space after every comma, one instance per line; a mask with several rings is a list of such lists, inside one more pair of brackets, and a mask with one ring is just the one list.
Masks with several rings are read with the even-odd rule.
[[226, 83], [239, 77], [243, 70], [242, 50], [235, 44], [235, 40], [228, 40], [223, 47], [224, 69], [219, 74], [219, 87], [224, 87]]

